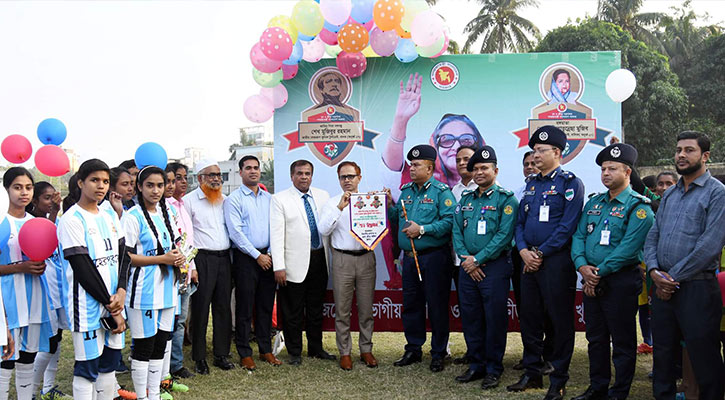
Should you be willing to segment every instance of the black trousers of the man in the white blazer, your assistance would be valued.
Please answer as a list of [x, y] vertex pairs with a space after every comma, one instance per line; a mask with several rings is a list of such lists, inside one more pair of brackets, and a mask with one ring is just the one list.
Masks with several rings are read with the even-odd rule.
[[327, 290], [327, 263], [324, 249], [310, 253], [310, 268], [300, 283], [287, 281], [279, 289], [279, 306], [282, 312], [287, 353], [302, 354], [302, 328], [307, 333], [307, 354], [322, 351], [322, 302]]

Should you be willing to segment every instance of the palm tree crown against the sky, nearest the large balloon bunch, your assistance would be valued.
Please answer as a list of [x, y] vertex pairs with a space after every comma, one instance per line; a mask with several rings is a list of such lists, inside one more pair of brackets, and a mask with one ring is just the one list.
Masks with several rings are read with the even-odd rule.
[[[524, 7], [538, 6], [536, 0], [478, 0], [483, 7], [463, 29], [468, 33], [463, 53], [483, 37], [481, 53], [526, 52], [541, 38], [533, 22], [517, 14]], [[533, 37], [533, 40], [532, 38]]]

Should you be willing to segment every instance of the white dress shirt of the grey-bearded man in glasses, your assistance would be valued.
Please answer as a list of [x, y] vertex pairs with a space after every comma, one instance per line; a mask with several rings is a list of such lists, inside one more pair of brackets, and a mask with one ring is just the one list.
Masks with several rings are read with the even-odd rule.
[[[223, 198], [226, 196], [222, 195]], [[229, 234], [224, 223], [224, 202], [212, 204], [201, 188], [183, 197], [194, 227], [194, 247], [200, 250], [227, 250]]]

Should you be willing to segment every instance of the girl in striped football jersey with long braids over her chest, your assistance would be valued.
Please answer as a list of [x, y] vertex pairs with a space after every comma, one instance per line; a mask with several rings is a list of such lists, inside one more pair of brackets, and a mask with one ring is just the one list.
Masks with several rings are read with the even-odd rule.
[[139, 399], [160, 398], [164, 354], [173, 330], [179, 268], [184, 256], [174, 247], [175, 232], [164, 200], [166, 174], [143, 168], [136, 179], [138, 204], [123, 213], [131, 256], [126, 306], [131, 337], [131, 379]]

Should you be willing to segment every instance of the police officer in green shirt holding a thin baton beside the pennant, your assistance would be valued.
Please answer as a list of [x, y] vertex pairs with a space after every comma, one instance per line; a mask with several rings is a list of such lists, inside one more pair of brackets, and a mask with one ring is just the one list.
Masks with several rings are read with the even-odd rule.
[[[421, 361], [425, 343], [426, 303], [433, 333], [430, 370], [443, 371], [448, 343], [448, 300], [451, 293], [451, 251], [449, 242], [453, 226], [455, 200], [447, 185], [433, 178], [436, 150], [418, 145], [408, 152], [412, 182], [401, 187], [400, 199], [393, 205], [388, 192], [388, 213], [398, 220], [398, 245], [403, 257], [403, 330], [405, 353], [395, 366]], [[408, 221], [403, 215], [403, 204]], [[415, 250], [413, 249], [413, 245]], [[415, 255], [422, 280], [418, 277]]]

